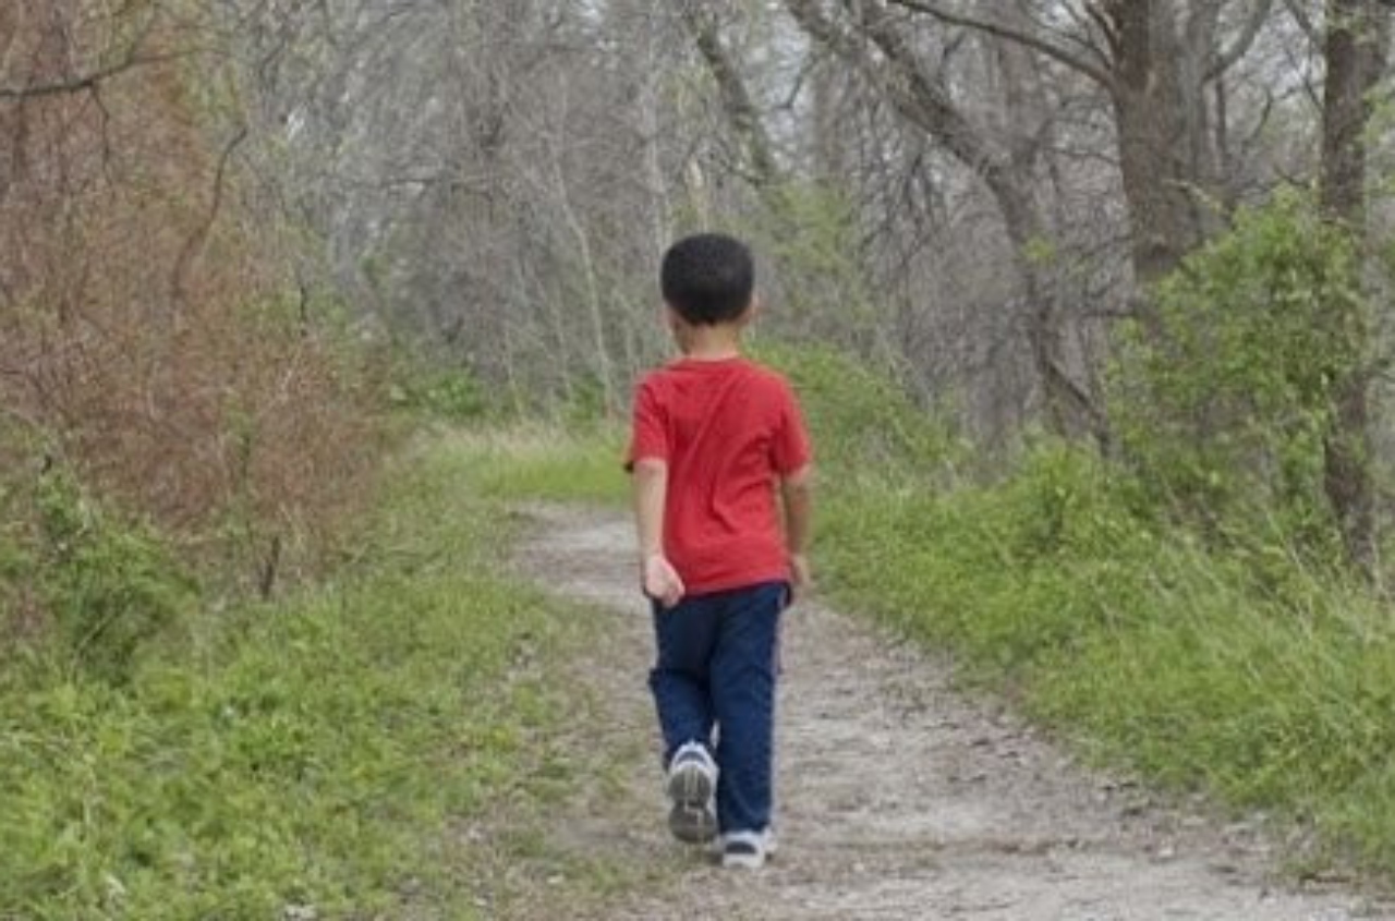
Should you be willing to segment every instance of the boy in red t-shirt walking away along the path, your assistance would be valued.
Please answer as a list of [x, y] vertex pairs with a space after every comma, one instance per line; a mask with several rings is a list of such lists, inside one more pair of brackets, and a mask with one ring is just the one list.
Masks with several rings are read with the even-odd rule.
[[741, 354], [757, 310], [751, 251], [688, 237], [660, 276], [682, 357], [639, 384], [628, 467], [668, 825], [756, 869], [774, 847], [780, 615], [809, 578], [809, 440], [784, 378]]

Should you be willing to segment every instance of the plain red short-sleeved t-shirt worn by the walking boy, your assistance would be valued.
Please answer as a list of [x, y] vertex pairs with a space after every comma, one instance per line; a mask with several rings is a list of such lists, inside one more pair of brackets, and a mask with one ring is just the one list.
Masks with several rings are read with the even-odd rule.
[[635, 392], [628, 465], [668, 463], [664, 555], [689, 594], [790, 579], [776, 480], [809, 462], [783, 377], [746, 359], [679, 359]]

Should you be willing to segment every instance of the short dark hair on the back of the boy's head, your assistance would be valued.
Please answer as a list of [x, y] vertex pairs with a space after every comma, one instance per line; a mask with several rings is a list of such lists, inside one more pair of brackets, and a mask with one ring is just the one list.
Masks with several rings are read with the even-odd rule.
[[724, 233], [684, 237], [664, 254], [658, 276], [664, 301], [695, 327], [737, 320], [756, 289], [751, 248]]

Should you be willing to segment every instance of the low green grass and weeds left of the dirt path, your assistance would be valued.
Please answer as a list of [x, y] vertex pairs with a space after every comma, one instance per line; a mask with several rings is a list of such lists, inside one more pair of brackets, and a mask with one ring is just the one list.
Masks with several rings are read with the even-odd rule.
[[[206, 613], [211, 641], [121, 689], [0, 675], [0, 917], [477, 914], [578, 780], [555, 740], [585, 703], [548, 667], [580, 618], [492, 575], [508, 534], [480, 479], [531, 480], [451, 440], [398, 477], [332, 582]], [[501, 816], [511, 837], [465, 833]]]

